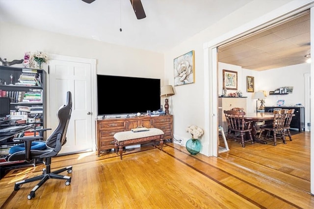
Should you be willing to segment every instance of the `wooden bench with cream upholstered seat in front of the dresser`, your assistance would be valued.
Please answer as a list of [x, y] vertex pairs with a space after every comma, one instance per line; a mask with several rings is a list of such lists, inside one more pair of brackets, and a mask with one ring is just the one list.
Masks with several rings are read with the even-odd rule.
[[[156, 141], [160, 141], [162, 150], [164, 132], [160, 129], [151, 128], [149, 131], [122, 131], [113, 135], [114, 148], [116, 153], [120, 153], [120, 159], [122, 159], [123, 147], [127, 145], [141, 144], [143, 142], [154, 141], [154, 147], [156, 147]], [[119, 147], [119, 150], [118, 150]]]

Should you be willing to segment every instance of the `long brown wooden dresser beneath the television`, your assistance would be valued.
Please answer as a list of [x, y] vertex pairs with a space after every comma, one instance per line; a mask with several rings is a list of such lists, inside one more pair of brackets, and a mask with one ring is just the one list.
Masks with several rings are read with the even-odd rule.
[[164, 139], [173, 141], [173, 116], [109, 118], [96, 120], [97, 153], [114, 149], [113, 135], [121, 131], [130, 131], [137, 127], [157, 128], [162, 130]]

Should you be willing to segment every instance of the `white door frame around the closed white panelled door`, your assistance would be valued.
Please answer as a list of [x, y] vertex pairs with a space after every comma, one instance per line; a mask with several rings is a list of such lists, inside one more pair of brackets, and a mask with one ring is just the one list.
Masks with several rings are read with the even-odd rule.
[[[68, 62], [80, 62], [80, 63], [85, 63], [85, 64], [90, 64], [91, 66], [91, 92], [96, 92], [97, 89], [97, 69], [96, 69], [96, 64], [97, 60], [96, 59], [90, 59], [90, 58], [82, 58], [82, 57], [74, 57], [74, 56], [67, 56], [67, 55], [61, 55], [61, 54], [49, 54], [49, 58], [53, 60], [60, 60], [60, 61], [68, 61]], [[48, 66], [48, 72], [47, 72], [47, 112], [50, 110], [50, 83], [49, 83], [49, 66]], [[92, 114], [92, 120], [97, 119], [97, 111], [96, 111], [96, 99], [97, 96], [96, 94], [91, 94], [91, 114]], [[96, 125], [91, 121], [92, 123], [92, 151], [96, 151]], [[47, 115], [47, 127], [50, 127], [50, 116]]]

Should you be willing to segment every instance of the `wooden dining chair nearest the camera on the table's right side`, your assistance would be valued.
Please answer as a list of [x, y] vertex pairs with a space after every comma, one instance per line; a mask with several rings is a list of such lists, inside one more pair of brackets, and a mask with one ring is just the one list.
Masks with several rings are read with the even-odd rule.
[[[285, 111], [282, 111], [285, 112]], [[264, 126], [260, 127], [260, 134], [259, 134], [259, 139], [262, 138], [262, 133], [266, 131], [266, 134], [263, 139], [267, 140], [273, 140], [274, 146], [277, 145], [277, 139], [282, 138], [283, 143], [286, 143], [286, 136], [284, 134], [284, 124], [286, 120], [286, 113], [280, 114], [280, 112], [275, 112], [274, 113], [274, 119], [272, 121], [272, 124], [266, 124]]]

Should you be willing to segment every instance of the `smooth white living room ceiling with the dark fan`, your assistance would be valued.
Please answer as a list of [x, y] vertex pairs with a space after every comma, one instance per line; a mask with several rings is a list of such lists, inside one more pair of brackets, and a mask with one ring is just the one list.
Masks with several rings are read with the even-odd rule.
[[0, 21], [165, 52], [250, 1], [142, 0], [137, 20], [130, 0], [0, 0]]

